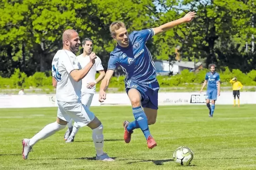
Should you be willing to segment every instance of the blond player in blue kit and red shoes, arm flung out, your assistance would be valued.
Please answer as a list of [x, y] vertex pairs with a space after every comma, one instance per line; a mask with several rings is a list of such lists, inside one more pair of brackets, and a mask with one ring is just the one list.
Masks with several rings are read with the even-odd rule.
[[109, 30], [112, 38], [117, 41], [117, 46], [110, 53], [106, 75], [100, 85], [99, 101], [103, 102], [106, 99], [105, 91], [109, 81], [116, 67], [120, 65], [126, 73], [125, 89], [135, 118], [133, 122], [123, 122], [126, 143], [131, 141], [133, 130], [140, 128], [146, 137], [148, 148], [152, 149], [156, 146], [148, 125], [156, 122], [159, 84], [156, 80], [155, 64], [146, 42], [156, 34], [192, 21], [194, 17], [196, 13], [189, 12], [180, 19], [159, 27], [133, 31], [130, 35], [123, 22], [117, 21], [110, 25]]

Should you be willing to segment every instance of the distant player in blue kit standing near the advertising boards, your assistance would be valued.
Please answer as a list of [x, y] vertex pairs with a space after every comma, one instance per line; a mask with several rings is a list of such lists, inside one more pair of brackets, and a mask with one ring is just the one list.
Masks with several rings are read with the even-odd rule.
[[[200, 92], [203, 91], [203, 88], [207, 84], [206, 91], [206, 106], [209, 108], [209, 117], [212, 118], [214, 109], [215, 109], [215, 101], [217, 100], [217, 96], [220, 96], [220, 75], [215, 72], [215, 64], [209, 64], [210, 72], [207, 72], [205, 75], [205, 80]], [[211, 100], [211, 106], [210, 106]]]

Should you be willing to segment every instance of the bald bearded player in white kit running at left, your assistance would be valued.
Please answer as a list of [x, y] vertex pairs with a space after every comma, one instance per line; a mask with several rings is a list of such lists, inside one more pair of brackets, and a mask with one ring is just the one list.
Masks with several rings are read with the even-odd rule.
[[[46, 125], [31, 139], [22, 140], [22, 157], [27, 159], [32, 147], [40, 140], [46, 139], [55, 132], [66, 127], [72, 118], [80, 127], [88, 126], [92, 129], [92, 140], [96, 149], [96, 160], [114, 161], [103, 152], [103, 125], [100, 120], [82, 104], [82, 79], [87, 75], [95, 63], [96, 55], [92, 52], [90, 62], [81, 69], [75, 56], [78, 52], [80, 40], [78, 33], [67, 29], [62, 35], [63, 49], [58, 50], [52, 61], [53, 84], [57, 81], [56, 100], [58, 103], [57, 119]], [[55, 81], [56, 80], [56, 81]]]

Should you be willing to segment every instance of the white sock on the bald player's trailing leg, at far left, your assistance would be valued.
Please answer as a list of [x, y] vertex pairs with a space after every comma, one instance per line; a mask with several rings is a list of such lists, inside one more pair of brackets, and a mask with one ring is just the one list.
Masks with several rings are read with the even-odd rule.
[[55, 132], [62, 130], [66, 125], [60, 125], [57, 122], [50, 123], [46, 125], [42, 130], [35, 134], [29, 141], [29, 146], [35, 145], [38, 141], [46, 139], [47, 137], [53, 135]]

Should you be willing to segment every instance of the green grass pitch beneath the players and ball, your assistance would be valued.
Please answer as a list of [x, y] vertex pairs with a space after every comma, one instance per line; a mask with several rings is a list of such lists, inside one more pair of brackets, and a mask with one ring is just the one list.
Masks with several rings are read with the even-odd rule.
[[[23, 160], [21, 140], [32, 137], [56, 119], [56, 108], [0, 109], [1, 170], [222, 170], [256, 169], [256, 105], [240, 108], [216, 105], [214, 118], [206, 106], [159, 107], [157, 122], [150, 126], [157, 147], [147, 148], [144, 135], [136, 129], [130, 144], [123, 141], [124, 120], [133, 120], [131, 107], [91, 107], [104, 125], [104, 151], [115, 162], [95, 161], [91, 130], [81, 128], [75, 142], [65, 143], [61, 130], [33, 147]], [[179, 146], [194, 152], [189, 167], [172, 159]]]

